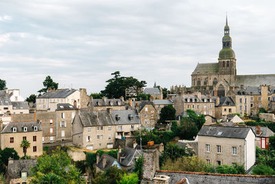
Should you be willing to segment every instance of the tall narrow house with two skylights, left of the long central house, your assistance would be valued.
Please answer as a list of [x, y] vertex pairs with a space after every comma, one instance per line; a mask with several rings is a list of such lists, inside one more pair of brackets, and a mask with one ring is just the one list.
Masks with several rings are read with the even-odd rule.
[[58, 103], [56, 109], [56, 141], [72, 141], [72, 122], [77, 108], [69, 103]]

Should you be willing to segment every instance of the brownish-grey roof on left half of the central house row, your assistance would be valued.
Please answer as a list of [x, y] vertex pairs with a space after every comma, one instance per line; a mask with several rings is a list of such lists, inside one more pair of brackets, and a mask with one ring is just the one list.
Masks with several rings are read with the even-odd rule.
[[[98, 118], [96, 114], [98, 113]], [[102, 125], [115, 125], [112, 116], [106, 110], [98, 112], [80, 112], [80, 121], [85, 127], [102, 126]]]

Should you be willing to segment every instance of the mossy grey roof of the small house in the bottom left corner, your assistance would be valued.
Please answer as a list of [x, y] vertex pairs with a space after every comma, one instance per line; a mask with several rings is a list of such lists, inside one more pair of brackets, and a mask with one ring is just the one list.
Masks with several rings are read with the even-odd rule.
[[14, 160], [8, 165], [8, 176], [12, 178], [21, 178], [21, 172], [27, 172], [31, 176], [31, 168], [36, 165], [35, 159]]

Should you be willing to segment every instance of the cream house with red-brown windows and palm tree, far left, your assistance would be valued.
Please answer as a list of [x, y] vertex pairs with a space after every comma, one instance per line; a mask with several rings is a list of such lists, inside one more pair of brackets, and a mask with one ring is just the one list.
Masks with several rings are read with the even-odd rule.
[[3, 127], [3, 124], [0, 122], [0, 127], [1, 150], [5, 149], [5, 147], [12, 147], [20, 157], [24, 156], [23, 148], [20, 145], [22, 140], [25, 139], [30, 142], [30, 148], [27, 150], [28, 156], [37, 157], [43, 153], [42, 128], [40, 123], [10, 122]]

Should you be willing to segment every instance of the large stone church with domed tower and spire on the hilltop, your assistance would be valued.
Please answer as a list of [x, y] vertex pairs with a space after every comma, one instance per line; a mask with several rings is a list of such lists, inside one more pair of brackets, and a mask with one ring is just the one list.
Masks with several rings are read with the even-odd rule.
[[198, 63], [192, 72], [192, 88], [195, 90], [213, 90], [215, 96], [226, 96], [230, 88], [244, 86], [275, 86], [275, 74], [236, 74], [236, 57], [232, 50], [232, 39], [228, 19], [224, 27], [223, 48], [219, 52], [218, 63]]

